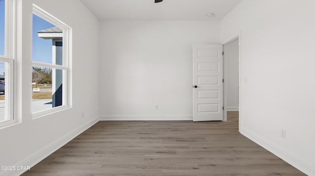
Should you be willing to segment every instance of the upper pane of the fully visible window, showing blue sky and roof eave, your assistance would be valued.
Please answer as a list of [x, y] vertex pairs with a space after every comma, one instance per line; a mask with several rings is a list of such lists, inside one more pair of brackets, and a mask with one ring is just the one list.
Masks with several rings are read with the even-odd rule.
[[32, 60], [63, 65], [63, 30], [33, 14]]

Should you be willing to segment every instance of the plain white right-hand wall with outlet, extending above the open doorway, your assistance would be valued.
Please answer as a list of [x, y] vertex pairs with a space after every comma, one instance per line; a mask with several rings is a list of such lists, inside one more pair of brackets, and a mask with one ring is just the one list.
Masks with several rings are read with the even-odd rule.
[[243, 0], [221, 21], [222, 43], [242, 31], [241, 133], [311, 176], [314, 7], [314, 0]]

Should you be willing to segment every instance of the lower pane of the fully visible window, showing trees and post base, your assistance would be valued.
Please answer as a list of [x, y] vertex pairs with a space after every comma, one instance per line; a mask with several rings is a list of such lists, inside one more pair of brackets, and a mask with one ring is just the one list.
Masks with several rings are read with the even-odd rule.
[[63, 105], [63, 70], [33, 67], [32, 111], [40, 112]]

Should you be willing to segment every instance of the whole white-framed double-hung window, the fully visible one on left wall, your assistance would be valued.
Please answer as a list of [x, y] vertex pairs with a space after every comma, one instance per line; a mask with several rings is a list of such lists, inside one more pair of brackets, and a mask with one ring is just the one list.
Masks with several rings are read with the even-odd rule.
[[69, 107], [70, 27], [33, 5], [32, 113], [39, 117]]

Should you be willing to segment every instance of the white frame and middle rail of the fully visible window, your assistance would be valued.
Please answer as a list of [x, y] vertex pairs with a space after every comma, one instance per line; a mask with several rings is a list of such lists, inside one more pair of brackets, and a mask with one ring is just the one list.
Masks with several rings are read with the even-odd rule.
[[46, 116], [51, 113], [55, 113], [64, 109], [70, 108], [70, 101], [69, 101], [69, 60], [70, 60], [70, 34], [71, 34], [71, 27], [60, 21], [59, 19], [55, 18], [53, 15], [49, 14], [42, 8], [38, 7], [37, 5], [33, 4], [33, 14], [37, 15], [38, 17], [46, 20], [47, 22], [58, 26], [59, 28], [63, 29], [63, 65], [55, 65], [43, 62], [35, 62], [32, 61], [32, 66], [35, 67], [45, 67], [51, 69], [59, 69], [63, 70], [63, 105], [54, 107], [52, 109], [43, 110], [40, 112], [32, 112], [32, 118], [39, 118], [42, 116]]

